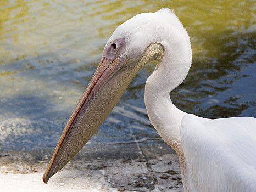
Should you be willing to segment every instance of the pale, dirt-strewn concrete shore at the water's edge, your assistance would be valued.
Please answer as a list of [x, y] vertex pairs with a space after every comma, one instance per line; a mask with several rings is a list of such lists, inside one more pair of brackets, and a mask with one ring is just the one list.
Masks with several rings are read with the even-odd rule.
[[42, 175], [52, 153], [53, 150], [1, 151], [1, 189], [183, 191], [179, 157], [162, 140], [85, 146], [46, 185]]

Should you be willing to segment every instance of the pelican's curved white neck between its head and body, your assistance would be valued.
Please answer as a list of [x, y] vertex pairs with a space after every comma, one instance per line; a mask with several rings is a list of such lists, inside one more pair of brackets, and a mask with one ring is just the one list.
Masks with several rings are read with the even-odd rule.
[[146, 82], [145, 104], [149, 120], [159, 135], [180, 155], [180, 127], [182, 117], [186, 113], [172, 104], [170, 91], [179, 86], [186, 77], [192, 53], [190, 42], [187, 43], [186, 38], [179, 41], [179, 46], [164, 46], [162, 63]]

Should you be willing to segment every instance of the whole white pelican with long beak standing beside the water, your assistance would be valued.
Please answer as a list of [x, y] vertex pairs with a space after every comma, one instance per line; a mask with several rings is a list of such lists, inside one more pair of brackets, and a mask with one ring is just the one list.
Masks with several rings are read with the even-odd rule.
[[55, 148], [43, 182], [61, 170], [110, 114], [132, 78], [157, 61], [145, 86], [149, 120], [176, 150], [185, 191], [256, 190], [256, 118], [207, 119], [176, 108], [170, 91], [192, 62], [190, 37], [174, 12], [162, 8], [121, 24]]

